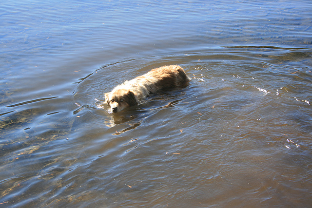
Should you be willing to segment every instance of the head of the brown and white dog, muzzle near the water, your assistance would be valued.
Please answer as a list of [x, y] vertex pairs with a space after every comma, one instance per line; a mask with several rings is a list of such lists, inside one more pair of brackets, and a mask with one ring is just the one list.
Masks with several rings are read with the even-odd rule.
[[137, 99], [130, 90], [118, 89], [105, 93], [105, 103], [110, 105], [111, 112], [117, 113], [127, 107], [137, 105]]

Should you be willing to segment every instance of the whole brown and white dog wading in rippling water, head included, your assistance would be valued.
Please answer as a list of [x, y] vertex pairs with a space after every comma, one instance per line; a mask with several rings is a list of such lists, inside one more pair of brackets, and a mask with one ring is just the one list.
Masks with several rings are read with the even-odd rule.
[[110, 112], [116, 113], [127, 107], [139, 104], [150, 94], [176, 87], [185, 87], [190, 78], [177, 65], [152, 69], [142, 76], [118, 85], [112, 92], [105, 93], [105, 102], [110, 105]]

